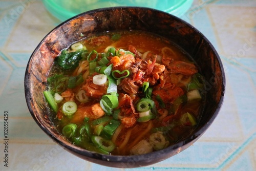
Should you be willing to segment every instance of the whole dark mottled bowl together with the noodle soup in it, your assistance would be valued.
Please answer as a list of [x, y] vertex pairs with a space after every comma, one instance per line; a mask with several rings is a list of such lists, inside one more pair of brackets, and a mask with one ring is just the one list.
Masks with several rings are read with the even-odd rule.
[[141, 167], [198, 140], [225, 90], [220, 57], [168, 13], [113, 7], [54, 28], [25, 73], [29, 111], [56, 143], [84, 160]]

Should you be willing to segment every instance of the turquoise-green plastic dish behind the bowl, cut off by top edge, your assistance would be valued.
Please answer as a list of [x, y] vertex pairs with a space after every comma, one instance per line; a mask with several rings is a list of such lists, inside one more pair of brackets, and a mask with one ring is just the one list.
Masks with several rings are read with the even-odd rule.
[[43, 0], [42, 2], [52, 15], [63, 22], [82, 12], [117, 6], [154, 8], [179, 17], [191, 7], [193, 0]]

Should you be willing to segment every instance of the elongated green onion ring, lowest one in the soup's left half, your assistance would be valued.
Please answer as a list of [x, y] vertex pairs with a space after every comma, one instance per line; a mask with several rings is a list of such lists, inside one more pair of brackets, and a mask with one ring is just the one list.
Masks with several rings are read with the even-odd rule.
[[92, 142], [96, 145], [99, 145], [106, 152], [112, 152], [115, 149], [115, 144], [110, 141], [106, 140], [100, 136], [92, 136]]

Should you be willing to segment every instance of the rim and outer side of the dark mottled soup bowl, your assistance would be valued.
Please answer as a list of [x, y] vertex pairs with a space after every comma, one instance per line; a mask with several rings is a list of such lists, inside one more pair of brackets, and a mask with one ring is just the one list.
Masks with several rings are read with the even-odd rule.
[[[174, 145], [170, 145], [164, 149], [161, 149], [159, 151], [155, 151], [155, 152], [151, 152], [151, 153], [148, 153], [148, 154], [143, 154], [143, 155], [131, 155], [131, 156], [121, 156], [121, 155], [114, 155], [114, 156], [111, 156], [111, 155], [104, 155], [104, 154], [98, 154], [98, 153], [95, 153], [95, 152], [91, 152], [91, 151], [88, 151], [87, 149], [83, 149], [81, 147], [77, 147], [73, 144], [71, 144], [70, 142], [68, 141], [64, 141], [63, 139], [59, 138], [58, 136], [54, 136], [52, 133], [51, 133], [51, 129], [49, 127], [46, 127], [38, 117], [36, 117], [36, 115], [33, 113], [33, 106], [31, 105], [32, 103], [32, 98], [31, 98], [31, 93], [30, 93], [30, 84], [29, 84], [29, 65], [30, 65], [30, 62], [35, 54], [35, 52], [38, 50], [38, 48], [41, 46], [42, 42], [44, 42], [44, 40], [48, 37], [48, 35], [50, 35], [54, 30], [56, 30], [57, 28], [59, 28], [60, 26], [62, 25], [65, 25], [66, 23], [70, 22], [72, 19], [74, 18], [77, 18], [79, 16], [82, 16], [82, 15], [86, 15], [86, 14], [92, 14], [92, 13], [96, 13], [96, 12], [101, 12], [101, 11], [106, 11], [106, 10], [113, 10], [113, 9], [143, 9], [143, 10], [151, 10], [151, 11], [155, 11], [155, 12], [159, 12], [159, 13], [164, 13], [165, 15], [170, 15], [172, 16], [173, 18], [175, 18], [176, 20], [180, 20], [180, 22], [184, 23], [187, 27], [190, 27], [192, 28], [193, 30], [195, 30], [198, 34], [200, 34], [200, 36], [202, 37], [202, 39], [204, 39], [211, 47], [212, 51], [215, 53], [216, 55], [216, 58], [219, 62], [219, 65], [220, 65], [220, 71], [221, 71], [221, 75], [222, 75], [222, 95], [220, 97], [220, 100], [218, 102], [218, 106], [219, 108], [216, 108], [215, 112], [212, 114], [212, 117], [210, 117], [206, 123], [204, 123], [200, 129], [196, 132], [194, 132], [194, 134], [192, 135], [189, 135], [188, 137], [186, 137], [184, 140], [180, 141], [180, 142], [177, 142], [175, 143]], [[224, 72], [224, 68], [223, 68], [223, 65], [222, 65], [222, 61], [221, 61], [221, 58], [218, 54], [218, 52], [216, 51], [216, 49], [214, 48], [214, 46], [211, 44], [211, 42], [198, 30], [196, 29], [194, 26], [192, 26], [191, 24], [187, 23], [185, 20], [173, 15], [173, 14], [169, 14], [167, 12], [164, 12], [164, 11], [160, 11], [160, 10], [157, 10], [157, 9], [152, 9], [152, 8], [146, 8], [146, 7], [109, 7], [109, 8], [99, 8], [99, 9], [95, 9], [95, 10], [90, 10], [90, 11], [86, 11], [86, 12], [83, 12], [83, 13], [80, 13], [76, 16], [73, 16], [67, 20], [65, 20], [64, 22], [61, 22], [59, 25], [57, 25], [56, 27], [54, 27], [44, 38], [42, 38], [42, 40], [39, 42], [39, 44], [37, 45], [37, 47], [35, 48], [35, 50], [33, 51], [33, 53], [31, 54], [29, 60], [28, 60], [28, 65], [26, 67], [26, 72], [25, 72], [25, 83], [24, 83], [24, 86], [25, 86], [25, 97], [26, 97], [26, 102], [27, 102], [27, 105], [28, 105], [28, 109], [29, 109], [29, 112], [31, 114], [31, 116], [33, 117], [33, 119], [35, 120], [35, 122], [38, 124], [38, 126], [49, 136], [53, 139], [53, 141], [55, 141], [57, 144], [60, 144], [62, 147], [64, 148], [67, 148], [71, 151], [73, 151], [74, 153], [77, 153], [81, 156], [86, 156], [86, 157], [89, 157], [89, 158], [93, 158], [93, 159], [96, 159], [96, 160], [104, 160], [104, 161], [107, 161], [107, 162], [116, 162], [116, 163], [125, 163], [127, 161], [135, 161], [135, 162], [139, 162], [141, 160], [145, 160], [145, 159], [156, 159], [158, 157], [160, 157], [162, 154], [165, 154], [166, 152], [170, 151], [170, 150], [173, 150], [173, 149], [179, 149], [179, 147], [183, 146], [184, 144], [189, 144], [193, 141], [196, 141], [198, 138], [201, 137], [201, 135], [208, 129], [208, 127], [212, 124], [212, 122], [216, 119], [220, 109], [221, 109], [221, 106], [223, 104], [223, 100], [224, 100], [224, 94], [225, 94], [225, 84], [226, 84], [226, 79], [225, 79], [225, 72]], [[68, 143], [67, 143], [68, 142]], [[191, 145], [191, 144], [190, 144]], [[190, 146], [189, 145], [189, 146]], [[179, 153], [179, 150], [178, 152]], [[117, 160], [118, 159], [118, 160]], [[165, 160], [165, 159], [163, 159]]]

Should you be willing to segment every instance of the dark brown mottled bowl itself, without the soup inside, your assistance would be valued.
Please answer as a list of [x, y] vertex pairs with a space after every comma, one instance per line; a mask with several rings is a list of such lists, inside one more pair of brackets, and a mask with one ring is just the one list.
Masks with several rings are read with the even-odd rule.
[[[175, 145], [157, 152], [139, 156], [109, 156], [74, 146], [63, 138], [51, 122], [51, 113], [43, 91], [48, 72], [59, 51], [74, 41], [97, 32], [113, 30], [142, 30], [152, 32], [174, 41], [191, 55], [206, 78], [206, 104], [202, 118], [191, 136]], [[105, 8], [77, 15], [53, 29], [31, 55], [25, 74], [25, 94], [29, 111], [55, 142], [72, 154], [111, 167], [147, 166], [174, 156], [193, 144], [214, 121], [223, 102], [225, 75], [219, 55], [209, 40], [183, 20], [158, 10], [148, 8]]]

